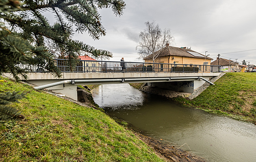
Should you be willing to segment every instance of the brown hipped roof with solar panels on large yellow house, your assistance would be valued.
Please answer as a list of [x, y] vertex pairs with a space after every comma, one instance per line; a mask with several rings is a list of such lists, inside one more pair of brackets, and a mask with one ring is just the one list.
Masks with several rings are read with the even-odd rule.
[[[169, 44], [166, 44], [166, 46], [164, 48], [162, 48], [161, 50], [158, 50], [156, 53], [159, 52], [158, 57], [163, 57], [163, 56], [183, 56], [183, 57], [194, 57], [194, 58], [205, 58], [205, 55], [202, 55], [201, 53], [195, 52], [191, 49], [187, 49], [187, 48], [179, 48], [179, 47], [173, 47], [173, 46], [169, 46]], [[190, 54], [189, 52], [193, 52], [193, 53], [197, 53], [197, 55], [200, 56], [194, 56], [192, 54]], [[154, 55], [156, 55], [156, 53], [154, 53]], [[143, 59], [151, 59], [153, 54], [143, 58]], [[202, 56], [201, 56], [202, 55]], [[206, 59], [212, 59], [210, 57], [206, 57]]]

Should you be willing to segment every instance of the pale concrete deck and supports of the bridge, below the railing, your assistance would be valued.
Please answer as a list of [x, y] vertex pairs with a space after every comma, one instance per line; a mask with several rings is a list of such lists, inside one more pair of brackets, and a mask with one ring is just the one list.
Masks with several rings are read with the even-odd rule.
[[[27, 82], [45, 86], [48, 90], [61, 93], [77, 100], [77, 85], [86, 84], [124, 84], [147, 82], [148, 85], [178, 92], [193, 91], [221, 73], [63, 73], [61, 78], [54, 78], [50, 73], [28, 74]], [[4, 74], [10, 76], [10, 74]], [[200, 79], [202, 78], [202, 79]]]

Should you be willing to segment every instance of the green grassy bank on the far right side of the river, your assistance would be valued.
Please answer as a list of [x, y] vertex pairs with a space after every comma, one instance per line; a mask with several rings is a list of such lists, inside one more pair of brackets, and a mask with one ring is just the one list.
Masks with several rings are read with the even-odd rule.
[[[256, 122], [256, 73], [227, 73], [185, 105]], [[242, 117], [241, 117], [242, 116]]]

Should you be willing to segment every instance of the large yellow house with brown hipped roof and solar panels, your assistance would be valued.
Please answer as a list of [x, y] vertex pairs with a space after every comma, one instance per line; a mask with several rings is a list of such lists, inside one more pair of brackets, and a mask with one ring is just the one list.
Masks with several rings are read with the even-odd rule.
[[[158, 56], [157, 56], [158, 55]], [[178, 48], [169, 46], [167, 43], [166, 46], [158, 50], [156, 53], [151, 54], [144, 58], [145, 62], [152, 63], [152, 57], [156, 57], [155, 63], [173, 63], [174, 66], [178, 64], [185, 64], [184, 66], [196, 65], [199, 67], [199, 71], [203, 71], [202, 65], [210, 65], [212, 58], [206, 57], [200, 53], [197, 53], [186, 47]], [[204, 71], [210, 71], [210, 67], [204, 66]]]

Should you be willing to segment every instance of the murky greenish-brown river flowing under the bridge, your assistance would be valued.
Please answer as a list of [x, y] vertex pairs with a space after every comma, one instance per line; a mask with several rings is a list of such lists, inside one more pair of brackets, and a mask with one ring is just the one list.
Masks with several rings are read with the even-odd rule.
[[[256, 162], [256, 126], [144, 93], [129, 84], [92, 90], [95, 103], [143, 135], [181, 146], [209, 162]], [[191, 149], [191, 150], [190, 150]]]

